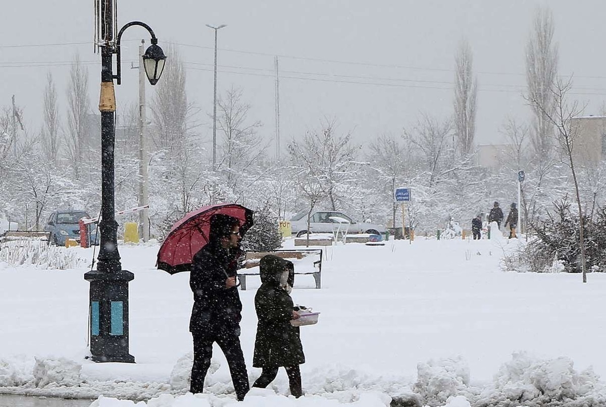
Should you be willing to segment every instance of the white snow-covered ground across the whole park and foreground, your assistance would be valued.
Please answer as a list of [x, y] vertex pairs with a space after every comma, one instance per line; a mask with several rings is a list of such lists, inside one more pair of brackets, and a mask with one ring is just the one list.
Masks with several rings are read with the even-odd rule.
[[[604, 406], [606, 276], [506, 273], [518, 240], [398, 240], [324, 248], [322, 289], [297, 276], [295, 302], [320, 311], [301, 328], [305, 396], [281, 370], [242, 406]], [[285, 242], [293, 248], [293, 240]], [[71, 248], [92, 259], [93, 249]], [[87, 269], [0, 262], [0, 392], [91, 397], [102, 407], [236, 403], [217, 348], [205, 393], [185, 394], [191, 363], [188, 273], [155, 270], [158, 245], [121, 245], [135, 364], [87, 355]], [[83, 264], [83, 262], [81, 262]], [[242, 346], [250, 381], [258, 277], [248, 277]], [[130, 400], [135, 400], [132, 402]]]

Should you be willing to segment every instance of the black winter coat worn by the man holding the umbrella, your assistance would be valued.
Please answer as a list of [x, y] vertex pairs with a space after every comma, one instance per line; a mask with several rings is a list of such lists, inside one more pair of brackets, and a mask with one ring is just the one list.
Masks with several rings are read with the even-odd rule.
[[193, 257], [190, 287], [193, 292], [190, 332], [217, 333], [222, 329], [239, 331], [242, 303], [238, 288], [225, 288], [227, 277], [238, 272], [238, 253], [209, 243]]

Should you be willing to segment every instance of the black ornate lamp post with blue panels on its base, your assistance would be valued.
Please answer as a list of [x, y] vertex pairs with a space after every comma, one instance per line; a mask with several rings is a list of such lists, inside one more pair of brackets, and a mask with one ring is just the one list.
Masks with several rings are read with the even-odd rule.
[[[113, 80], [120, 78], [120, 38], [131, 25], [149, 31], [151, 45], [145, 51], [144, 67], [152, 85], [158, 82], [164, 70], [166, 57], [158, 46], [158, 39], [143, 22], [124, 25], [113, 41], [113, 0], [101, 0], [99, 13], [101, 28], [101, 216], [99, 230], [101, 242], [97, 270], [84, 274], [90, 282], [90, 352], [95, 362], [135, 362], [128, 351], [128, 282], [135, 278], [130, 271], [122, 270], [118, 253], [118, 223], [114, 206], [114, 144], [116, 96]], [[116, 54], [116, 75], [112, 71], [112, 55]]]

